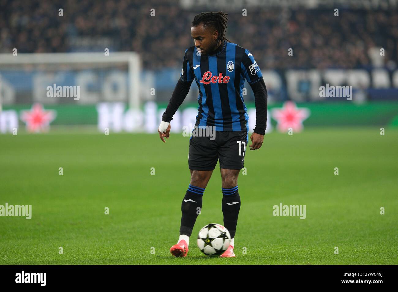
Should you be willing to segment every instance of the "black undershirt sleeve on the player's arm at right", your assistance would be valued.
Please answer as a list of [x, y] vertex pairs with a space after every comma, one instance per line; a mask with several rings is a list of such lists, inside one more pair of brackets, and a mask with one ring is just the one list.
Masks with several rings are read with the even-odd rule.
[[250, 84], [254, 93], [254, 104], [256, 105], [256, 128], [254, 133], [265, 135], [267, 128], [267, 88], [265, 87], [264, 79]]

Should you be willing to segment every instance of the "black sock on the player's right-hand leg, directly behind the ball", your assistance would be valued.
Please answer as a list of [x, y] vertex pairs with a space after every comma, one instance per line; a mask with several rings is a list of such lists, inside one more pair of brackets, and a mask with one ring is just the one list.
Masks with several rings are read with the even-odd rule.
[[238, 186], [230, 189], [222, 189], [222, 214], [224, 214], [224, 226], [228, 229], [231, 238], [235, 237], [236, 224], [240, 210], [240, 196]]

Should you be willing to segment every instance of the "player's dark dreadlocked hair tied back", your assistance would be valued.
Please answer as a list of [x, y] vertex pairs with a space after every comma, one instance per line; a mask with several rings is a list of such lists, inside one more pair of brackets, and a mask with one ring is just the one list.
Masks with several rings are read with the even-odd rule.
[[199, 25], [203, 23], [203, 27], [206, 29], [207, 27], [211, 27], [214, 30], [219, 31], [219, 36], [217, 37], [216, 42], [224, 40], [230, 43], [230, 41], [225, 37], [226, 24], [228, 23], [228, 15], [222, 11], [220, 12], [202, 12], [193, 18], [192, 26]]

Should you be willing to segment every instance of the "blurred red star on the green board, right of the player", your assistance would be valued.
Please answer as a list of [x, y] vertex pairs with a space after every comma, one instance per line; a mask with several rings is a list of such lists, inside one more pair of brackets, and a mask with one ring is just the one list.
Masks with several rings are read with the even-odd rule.
[[285, 101], [282, 108], [274, 108], [272, 117], [277, 120], [277, 129], [286, 132], [289, 128], [299, 132], [302, 130], [302, 121], [310, 116], [308, 108], [297, 108], [295, 102]]

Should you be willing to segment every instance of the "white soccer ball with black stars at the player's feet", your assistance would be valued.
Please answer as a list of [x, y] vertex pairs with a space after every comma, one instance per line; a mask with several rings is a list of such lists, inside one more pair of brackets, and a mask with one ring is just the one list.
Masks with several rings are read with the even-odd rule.
[[203, 227], [198, 234], [198, 247], [209, 257], [222, 255], [231, 242], [228, 229], [224, 226], [211, 223]]

